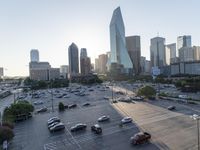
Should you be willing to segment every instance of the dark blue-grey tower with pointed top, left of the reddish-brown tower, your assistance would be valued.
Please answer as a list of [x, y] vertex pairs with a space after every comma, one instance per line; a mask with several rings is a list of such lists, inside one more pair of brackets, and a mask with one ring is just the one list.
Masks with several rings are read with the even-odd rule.
[[69, 74], [70, 76], [77, 75], [79, 73], [79, 59], [78, 59], [78, 47], [72, 43], [68, 48], [69, 57]]

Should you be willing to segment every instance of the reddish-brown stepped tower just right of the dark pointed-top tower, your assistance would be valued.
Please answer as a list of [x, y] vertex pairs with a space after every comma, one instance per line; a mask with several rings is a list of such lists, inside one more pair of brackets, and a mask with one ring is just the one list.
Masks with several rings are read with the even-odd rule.
[[91, 72], [91, 62], [90, 62], [90, 58], [87, 57], [87, 49], [86, 48], [81, 48], [80, 68], [81, 68], [82, 75], [87, 75]]

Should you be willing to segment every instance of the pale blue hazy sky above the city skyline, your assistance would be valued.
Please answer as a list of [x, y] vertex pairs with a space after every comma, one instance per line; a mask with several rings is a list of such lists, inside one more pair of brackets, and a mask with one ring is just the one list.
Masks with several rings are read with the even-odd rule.
[[110, 51], [109, 24], [120, 6], [126, 36], [141, 36], [149, 59], [150, 39], [191, 35], [200, 45], [199, 0], [0, 0], [0, 67], [6, 76], [28, 76], [30, 50], [52, 67], [68, 64], [68, 47], [87, 48], [92, 62]]

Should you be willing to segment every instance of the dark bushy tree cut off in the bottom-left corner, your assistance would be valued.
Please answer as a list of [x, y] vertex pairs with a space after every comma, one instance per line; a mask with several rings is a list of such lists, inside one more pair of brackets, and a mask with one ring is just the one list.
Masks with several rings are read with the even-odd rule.
[[3, 144], [3, 141], [10, 141], [14, 137], [14, 132], [12, 129], [6, 126], [0, 127], [0, 144]]

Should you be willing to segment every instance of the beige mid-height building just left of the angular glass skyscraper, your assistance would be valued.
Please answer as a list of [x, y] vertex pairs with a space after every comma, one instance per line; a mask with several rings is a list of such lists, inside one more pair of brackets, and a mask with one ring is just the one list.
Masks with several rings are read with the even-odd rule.
[[99, 55], [99, 73], [105, 74], [107, 72], [106, 64], [108, 61], [108, 56], [106, 54]]

